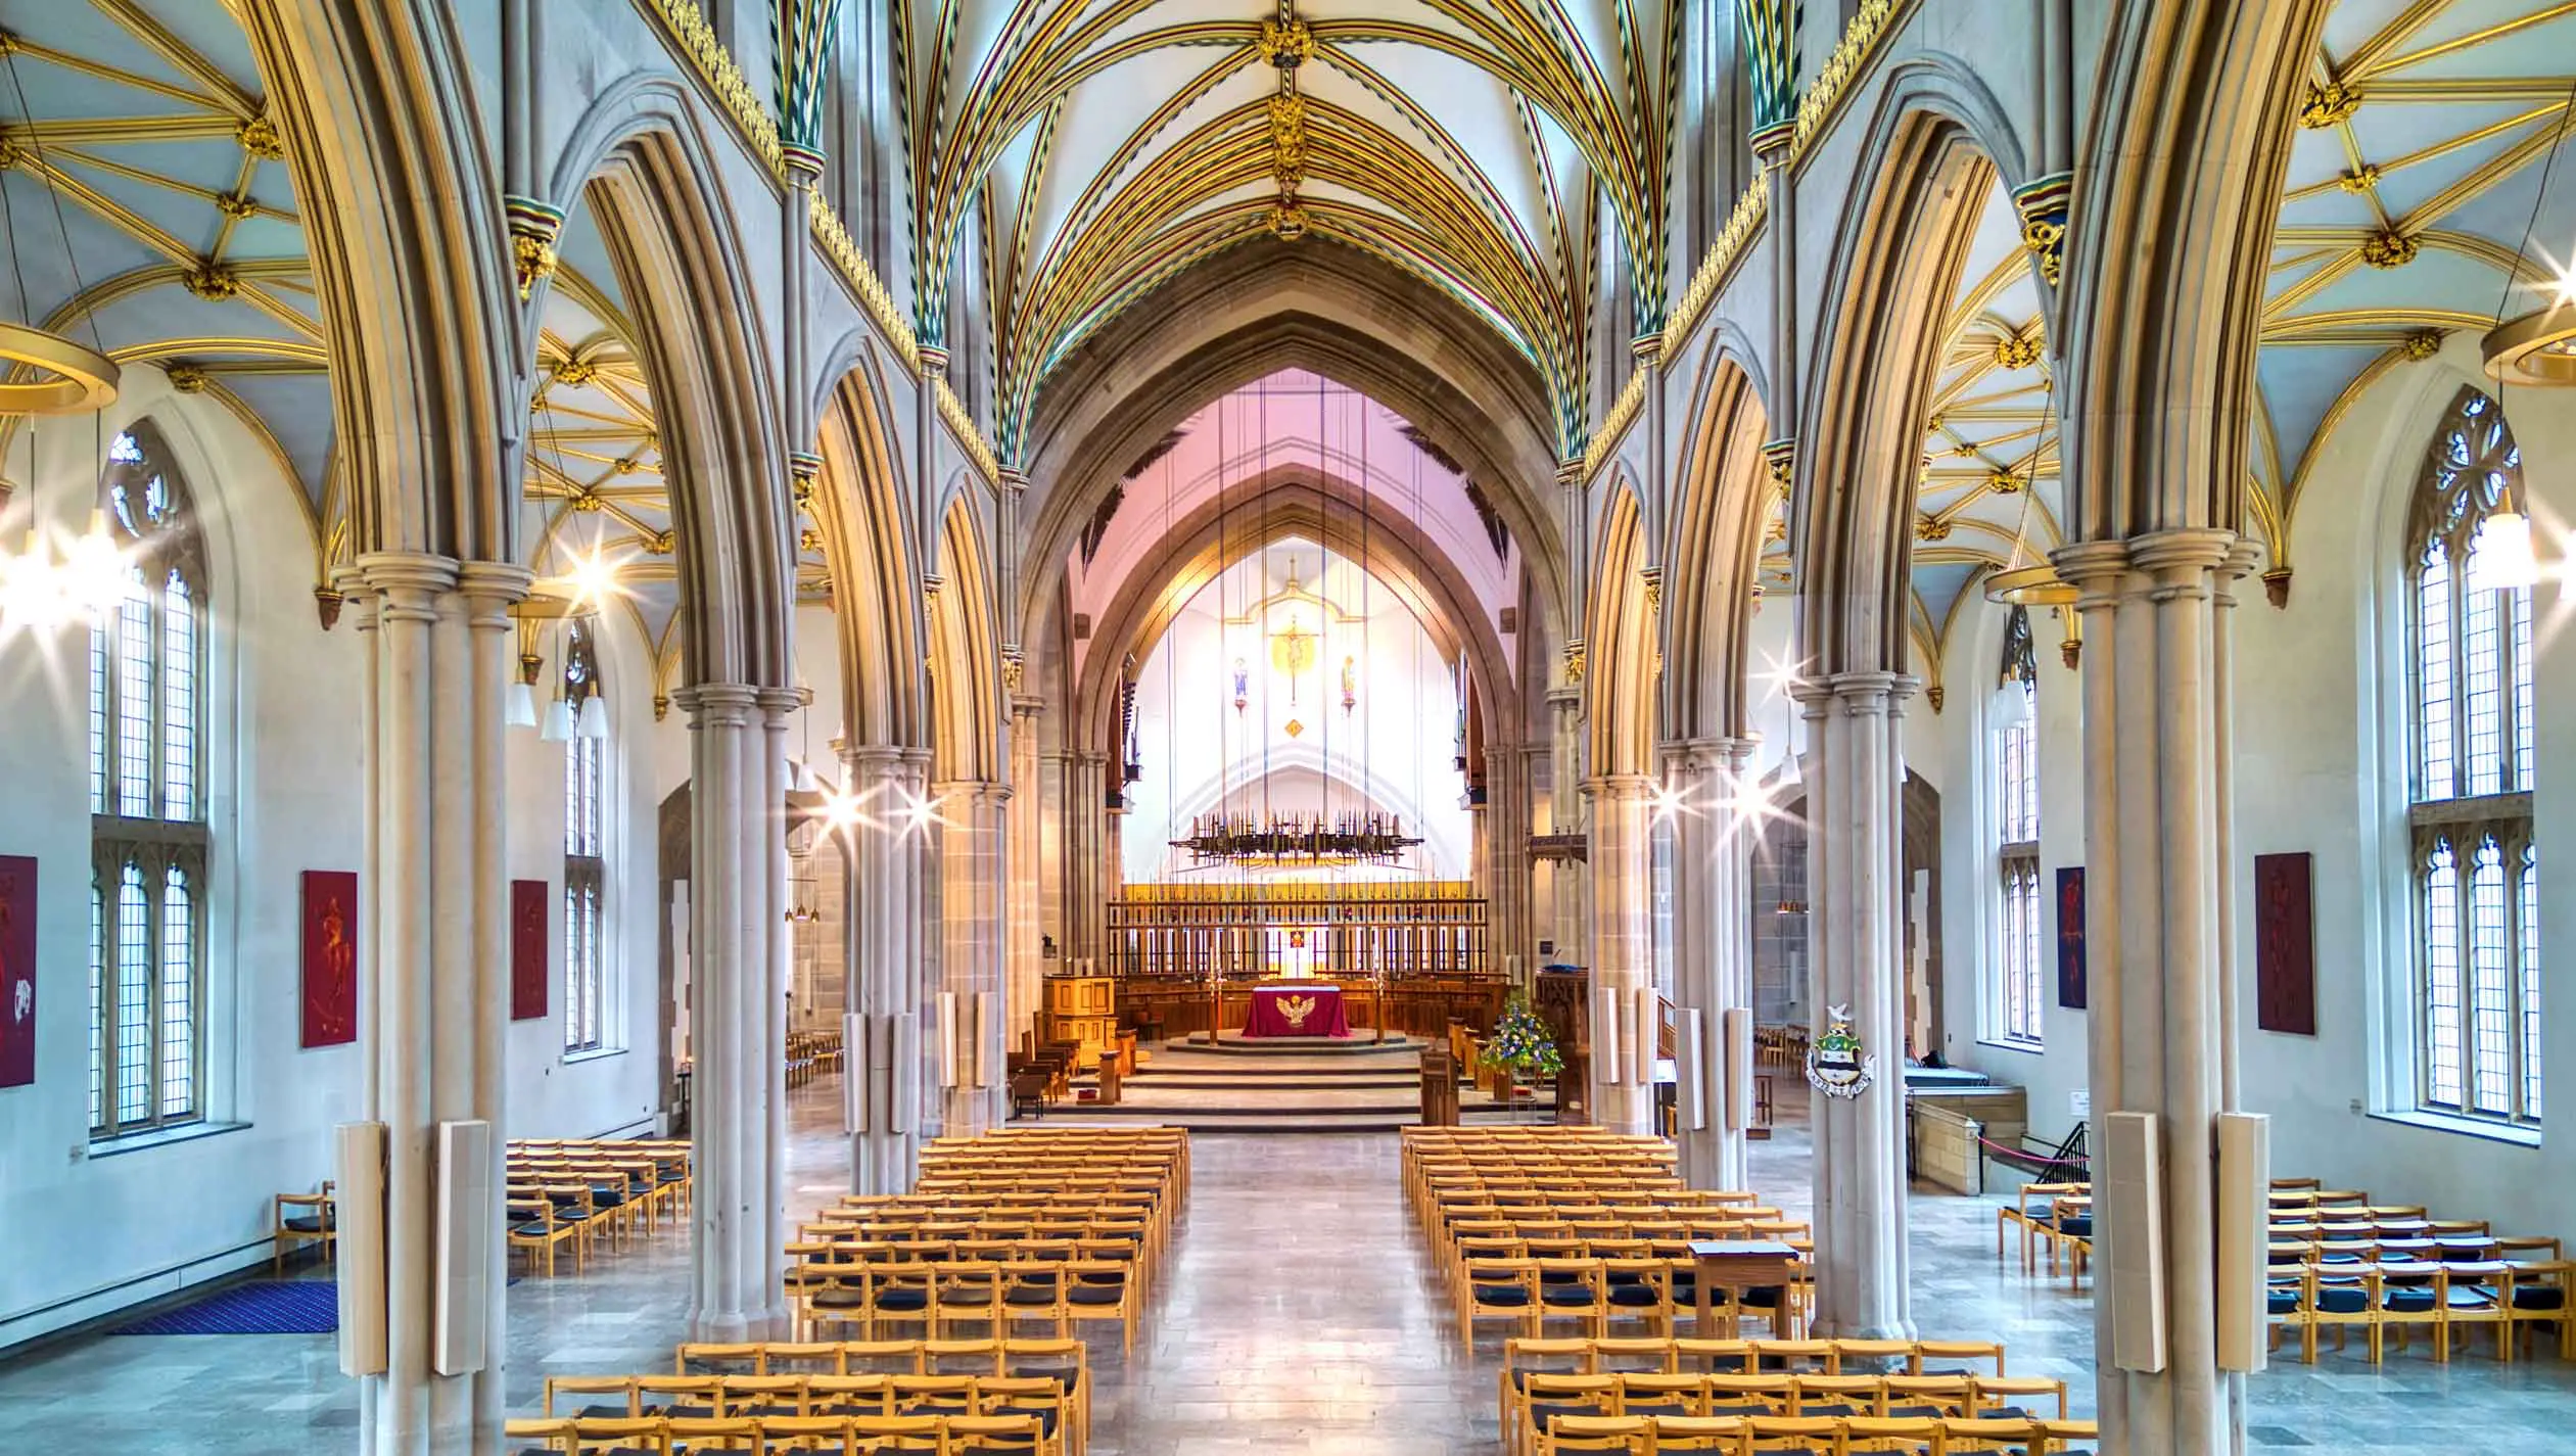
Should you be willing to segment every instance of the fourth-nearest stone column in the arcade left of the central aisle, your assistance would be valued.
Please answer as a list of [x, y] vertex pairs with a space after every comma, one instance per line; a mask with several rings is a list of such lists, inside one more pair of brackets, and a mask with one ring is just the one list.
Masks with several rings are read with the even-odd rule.
[[[1002, 832], [1010, 786], [951, 778], [940, 804], [940, 990], [956, 997], [956, 1082], [948, 1087], [945, 1136], [979, 1136], [1002, 1116], [1002, 1023], [976, 1028], [976, 997], [1002, 992]], [[989, 1067], [976, 1075], [981, 1059]], [[940, 1054], [935, 1046], [927, 1051]], [[989, 1085], [987, 1085], [989, 1082]]]

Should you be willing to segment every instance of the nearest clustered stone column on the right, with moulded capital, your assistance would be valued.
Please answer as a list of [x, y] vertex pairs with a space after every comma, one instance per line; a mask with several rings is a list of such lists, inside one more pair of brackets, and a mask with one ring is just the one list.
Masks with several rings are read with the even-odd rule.
[[[2084, 928], [2092, 1106], [2154, 1113], [2164, 1152], [2161, 1368], [2123, 1368], [2117, 1291], [2094, 1294], [2102, 1448], [2244, 1451], [2244, 1374], [2218, 1368], [2215, 1118], [2236, 1111], [2223, 745], [2228, 606], [2249, 551], [2179, 528], [2056, 551], [2084, 613]], [[2133, 1170], [2094, 1142], [2094, 1178]], [[2130, 1227], [2105, 1209], [2097, 1268]], [[2136, 1363], [2136, 1361], [2133, 1361]]]

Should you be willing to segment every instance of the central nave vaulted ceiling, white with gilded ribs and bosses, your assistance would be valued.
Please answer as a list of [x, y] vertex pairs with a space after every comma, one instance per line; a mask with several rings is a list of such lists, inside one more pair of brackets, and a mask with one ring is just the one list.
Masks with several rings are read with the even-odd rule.
[[914, 276], [940, 340], [981, 240], [994, 433], [1066, 348], [1193, 260], [1314, 237], [1463, 299], [1584, 436], [1613, 258], [1662, 317], [1672, 0], [899, 0]]

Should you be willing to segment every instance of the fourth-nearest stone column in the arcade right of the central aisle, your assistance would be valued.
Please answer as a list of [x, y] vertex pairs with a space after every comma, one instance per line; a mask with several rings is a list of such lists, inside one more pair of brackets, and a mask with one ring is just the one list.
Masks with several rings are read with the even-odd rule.
[[[1584, 783], [1592, 801], [1592, 1000], [1602, 992], [1618, 1005], [1618, 1020], [1592, 1023], [1592, 1121], [1610, 1131], [1654, 1131], [1654, 1064], [1638, 1062], [1638, 1036], [1631, 1018], [1651, 1008], [1654, 992], [1654, 856], [1651, 801], [1654, 778], [1615, 773]], [[1615, 1046], [1613, 1046], [1615, 1041]], [[1605, 1062], [1618, 1059], [1618, 1080], [1602, 1082]]]

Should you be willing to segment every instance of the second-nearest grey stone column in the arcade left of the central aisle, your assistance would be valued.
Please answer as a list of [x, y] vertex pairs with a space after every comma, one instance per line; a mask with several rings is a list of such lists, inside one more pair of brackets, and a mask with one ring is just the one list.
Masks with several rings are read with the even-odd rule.
[[690, 729], [693, 1340], [786, 1330], [786, 714], [796, 696], [696, 683]]

